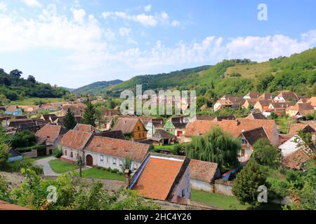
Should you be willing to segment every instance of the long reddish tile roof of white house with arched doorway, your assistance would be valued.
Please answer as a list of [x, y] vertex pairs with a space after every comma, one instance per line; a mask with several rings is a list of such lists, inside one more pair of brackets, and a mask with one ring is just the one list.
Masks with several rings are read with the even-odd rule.
[[107, 137], [93, 137], [86, 146], [86, 151], [112, 155], [117, 158], [131, 158], [141, 162], [147, 155], [150, 145], [140, 144], [138, 142], [112, 139]]

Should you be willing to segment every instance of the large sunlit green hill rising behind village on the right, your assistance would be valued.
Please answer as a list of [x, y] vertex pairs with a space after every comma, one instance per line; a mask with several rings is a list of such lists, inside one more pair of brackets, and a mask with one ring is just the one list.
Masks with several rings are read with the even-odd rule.
[[114, 85], [107, 94], [119, 97], [122, 90], [197, 90], [199, 97], [217, 98], [223, 94], [243, 95], [249, 91], [277, 92], [292, 90], [300, 95], [316, 94], [316, 48], [291, 57], [277, 57], [268, 62], [251, 62], [249, 59], [224, 60], [214, 66], [135, 76]]

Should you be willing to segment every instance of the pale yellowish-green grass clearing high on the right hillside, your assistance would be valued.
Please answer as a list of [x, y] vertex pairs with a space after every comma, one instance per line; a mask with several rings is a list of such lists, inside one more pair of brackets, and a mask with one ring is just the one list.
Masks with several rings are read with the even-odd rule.
[[261, 73], [268, 73], [271, 69], [270, 62], [263, 62], [258, 64], [237, 64], [229, 67], [225, 71], [225, 77], [230, 78], [231, 73], [240, 73], [242, 78], [254, 78]]

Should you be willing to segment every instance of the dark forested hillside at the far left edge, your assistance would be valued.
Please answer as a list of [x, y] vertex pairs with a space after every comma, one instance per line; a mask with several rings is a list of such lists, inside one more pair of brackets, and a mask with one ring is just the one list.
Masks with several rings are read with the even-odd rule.
[[22, 71], [15, 69], [6, 73], [0, 69], [0, 101], [6, 104], [8, 101], [22, 99], [23, 97], [51, 97], [59, 98], [67, 94], [67, 90], [50, 84], [39, 83], [34, 76], [27, 79], [21, 78]]

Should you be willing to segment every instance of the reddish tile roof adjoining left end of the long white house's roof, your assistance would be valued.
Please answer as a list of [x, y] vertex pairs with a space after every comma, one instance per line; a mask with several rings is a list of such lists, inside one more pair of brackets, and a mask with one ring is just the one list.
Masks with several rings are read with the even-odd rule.
[[75, 130], [70, 130], [62, 137], [60, 141], [61, 146], [66, 146], [68, 148], [74, 148], [77, 150], [82, 150], [91, 139], [92, 134], [88, 132], [79, 132]]

